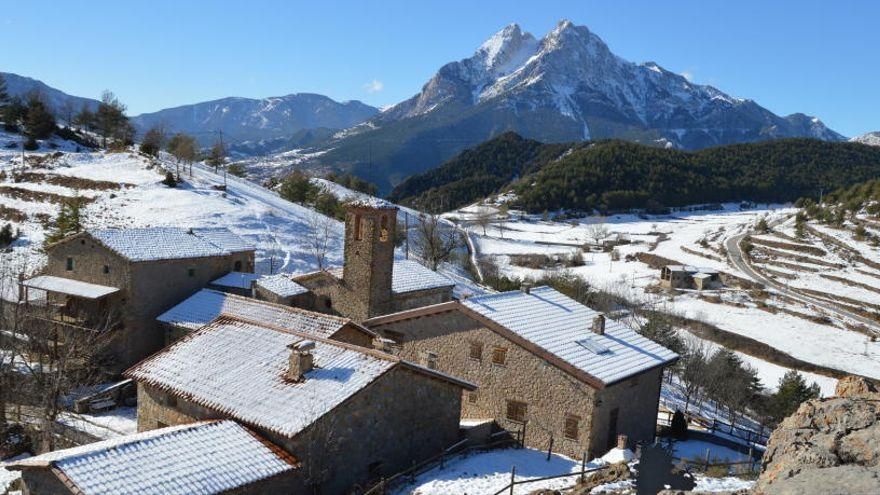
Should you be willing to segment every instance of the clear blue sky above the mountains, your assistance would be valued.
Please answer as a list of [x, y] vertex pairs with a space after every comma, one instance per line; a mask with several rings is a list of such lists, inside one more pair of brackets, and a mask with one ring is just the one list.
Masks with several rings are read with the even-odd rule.
[[130, 113], [295, 92], [396, 103], [516, 22], [562, 18], [653, 60], [845, 135], [880, 130], [880, 2], [0, 0], [0, 70]]

